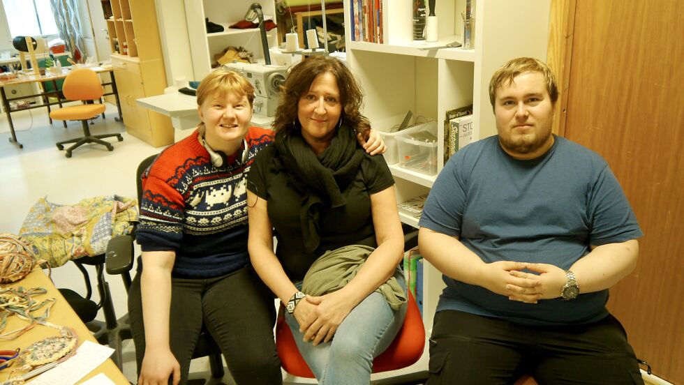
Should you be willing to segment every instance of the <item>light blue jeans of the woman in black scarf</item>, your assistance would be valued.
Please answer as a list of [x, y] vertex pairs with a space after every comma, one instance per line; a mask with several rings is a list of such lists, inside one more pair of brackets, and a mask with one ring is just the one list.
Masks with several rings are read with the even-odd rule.
[[[403, 273], [397, 269], [394, 277], [406, 291]], [[401, 329], [406, 306], [392, 310], [385, 296], [373, 292], [345, 317], [332, 340], [318, 346], [304, 342], [295, 317], [286, 313], [285, 320], [319, 385], [369, 384], [373, 358], [389, 347]]]

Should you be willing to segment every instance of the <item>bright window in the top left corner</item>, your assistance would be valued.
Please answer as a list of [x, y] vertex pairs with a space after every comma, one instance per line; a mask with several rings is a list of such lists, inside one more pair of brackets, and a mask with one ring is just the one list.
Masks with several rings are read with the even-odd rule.
[[14, 36], [57, 35], [50, 0], [2, 0], [10, 34]]

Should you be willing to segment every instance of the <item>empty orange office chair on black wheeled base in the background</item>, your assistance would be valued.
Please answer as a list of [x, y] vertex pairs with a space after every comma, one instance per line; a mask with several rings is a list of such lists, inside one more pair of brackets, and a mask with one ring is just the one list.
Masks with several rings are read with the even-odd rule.
[[[88, 68], [81, 68], [78, 70], [72, 70], [69, 75], [64, 79], [64, 86], [62, 88], [62, 93], [69, 100], [99, 100], [102, 98], [104, 89], [100, 83], [100, 77]], [[121, 134], [103, 134], [103, 135], [91, 135], [90, 129], [88, 128], [88, 119], [93, 119], [95, 116], [103, 113], [105, 111], [105, 105], [88, 103], [84, 105], [74, 105], [70, 107], [64, 107], [59, 110], [50, 112], [50, 118], [57, 120], [80, 120], [83, 126], [83, 137], [77, 137], [75, 139], [64, 140], [62, 142], [57, 142], [57, 149], [63, 150], [64, 144], [74, 143], [66, 149], [66, 157], [71, 158], [71, 151], [73, 151], [78, 146], [86, 143], [98, 143], [107, 147], [107, 150], [113, 151], [114, 146], [110, 142], [105, 142], [102, 140], [105, 137], [117, 137], [119, 142], [124, 140]]]

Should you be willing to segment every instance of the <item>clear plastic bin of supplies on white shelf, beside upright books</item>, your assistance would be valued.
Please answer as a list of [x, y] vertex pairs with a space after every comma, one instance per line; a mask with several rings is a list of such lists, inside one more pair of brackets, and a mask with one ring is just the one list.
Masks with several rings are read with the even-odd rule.
[[426, 175], [437, 174], [436, 121], [402, 130], [395, 139], [399, 150], [399, 166]]

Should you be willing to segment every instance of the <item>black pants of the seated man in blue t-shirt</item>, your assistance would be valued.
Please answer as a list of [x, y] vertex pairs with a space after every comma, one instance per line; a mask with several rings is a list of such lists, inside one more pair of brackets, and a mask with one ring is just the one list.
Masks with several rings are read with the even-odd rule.
[[522, 374], [539, 384], [644, 384], [618, 320], [530, 327], [467, 312], [436, 313], [430, 338], [429, 385], [513, 384]]

